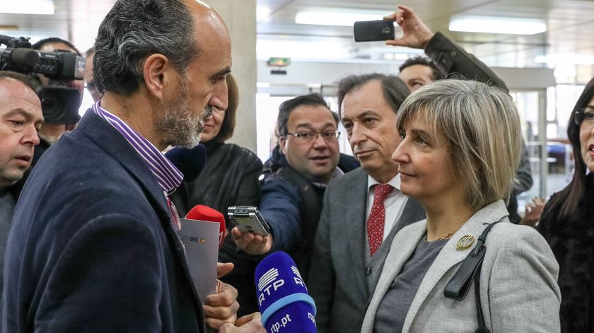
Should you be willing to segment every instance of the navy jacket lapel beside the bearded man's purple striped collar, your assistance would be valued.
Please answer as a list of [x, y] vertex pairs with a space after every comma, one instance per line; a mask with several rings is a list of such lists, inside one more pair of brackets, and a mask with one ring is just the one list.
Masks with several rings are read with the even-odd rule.
[[[86, 134], [95, 144], [105, 149], [107, 153], [113, 156], [116, 160], [120, 161], [122, 166], [128, 170], [129, 174], [136, 179], [139, 185], [146, 194], [146, 199], [150, 202], [153, 209], [161, 221], [165, 235], [168, 240], [173, 244], [173, 253], [177, 257], [179, 264], [182, 265], [186, 279], [190, 284], [193, 295], [196, 310], [202, 314], [202, 303], [198, 291], [194, 287], [192, 282], [192, 276], [190, 275], [190, 269], [187, 267], [187, 259], [185, 256], [185, 249], [180, 236], [177, 234], [177, 230], [173, 229], [171, 224], [171, 218], [169, 216], [169, 209], [163, 189], [158, 184], [158, 180], [153, 175], [151, 170], [146, 165], [144, 159], [139, 156], [138, 152], [134, 150], [131, 144], [110, 124], [101, 119], [98, 115], [89, 109], [78, 124], [78, 130]], [[110, 135], [105, 135], [110, 133]]]

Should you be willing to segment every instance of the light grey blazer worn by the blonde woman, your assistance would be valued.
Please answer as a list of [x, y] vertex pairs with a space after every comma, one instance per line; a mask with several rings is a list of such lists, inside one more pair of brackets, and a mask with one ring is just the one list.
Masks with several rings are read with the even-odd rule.
[[[480, 293], [485, 325], [491, 332], [559, 332], [561, 293], [559, 265], [544, 238], [528, 226], [508, 222], [503, 201], [477, 211], [445, 244], [427, 271], [410, 306], [402, 333], [474, 332], [477, 309], [474, 286], [462, 301], [443, 296], [448, 281], [460, 267], [467, 250], [455, 245], [463, 235], [477, 239], [486, 223], [504, 218], [491, 230], [485, 246]], [[365, 314], [361, 332], [373, 332], [375, 312], [402, 266], [426, 233], [426, 220], [400, 230], [392, 241], [386, 265]]]

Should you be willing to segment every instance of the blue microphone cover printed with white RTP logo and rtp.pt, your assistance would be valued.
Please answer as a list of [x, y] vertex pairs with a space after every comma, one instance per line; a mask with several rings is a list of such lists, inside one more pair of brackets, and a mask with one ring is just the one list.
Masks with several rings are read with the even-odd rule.
[[262, 259], [255, 272], [258, 307], [268, 333], [315, 333], [315, 303], [285, 252]]

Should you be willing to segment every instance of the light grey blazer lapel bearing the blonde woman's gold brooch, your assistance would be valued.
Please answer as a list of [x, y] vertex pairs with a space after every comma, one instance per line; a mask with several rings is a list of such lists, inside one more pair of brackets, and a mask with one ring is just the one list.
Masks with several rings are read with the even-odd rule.
[[[443, 278], [452, 267], [456, 264], [462, 262], [467, 255], [470, 253], [470, 250], [477, 245], [476, 240], [481, 235], [484, 228], [494, 221], [498, 221], [500, 218], [503, 218], [505, 215], [501, 215], [501, 206], [503, 206], [503, 211], [506, 211], [505, 204], [503, 201], [495, 201], [488, 206], [485, 206], [483, 209], [477, 211], [465, 224], [458, 230], [452, 238], [445, 243], [441, 252], [437, 255], [431, 267], [429, 267], [429, 271], [425, 274], [423, 281], [421, 281], [421, 285], [419, 286], [419, 290], [417, 291], [417, 295], [414, 296], [414, 300], [412, 300], [412, 304], [410, 305], [409, 312], [407, 313], [407, 317], [404, 320], [404, 326], [402, 327], [402, 332], [408, 332], [412, 322], [414, 321], [414, 317], [417, 315], [419, 308], [426, 300], [429, 293], [433, 291], [438, 281]], [[426, 228], [425, 228], [426, 230]], [[465, 250], [455, 250], [456, 244], [458, 240], [465, 235], [472, 235], [474, 236], [474, 243], [472, 246], [465, 249]], [[417, 239], [418, 241], [418, 239]], [[415, 246], [417, 244], [415, 243]], [[407, 257], [408, 259], [408, 257]], [[440, 291], [443, 293], [443, 291]], [[445, 296], [444, 296], [445, 297]]]

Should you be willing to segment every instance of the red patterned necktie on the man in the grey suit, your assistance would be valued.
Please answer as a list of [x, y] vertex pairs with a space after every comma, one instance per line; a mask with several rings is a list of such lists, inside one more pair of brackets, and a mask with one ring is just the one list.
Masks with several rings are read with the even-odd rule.
[[385, 224], [385, 206], [383, 201], [394, 187], [388, 184], [378, 184], [374, 186], [373, 206], [371, 214], [367, 220], [367, 238], [369, 240], [369, 251], [371, 255], [382, 245], [383, 230]]

